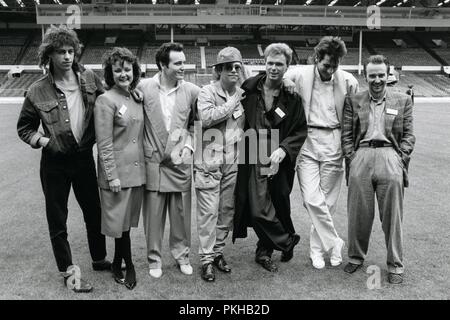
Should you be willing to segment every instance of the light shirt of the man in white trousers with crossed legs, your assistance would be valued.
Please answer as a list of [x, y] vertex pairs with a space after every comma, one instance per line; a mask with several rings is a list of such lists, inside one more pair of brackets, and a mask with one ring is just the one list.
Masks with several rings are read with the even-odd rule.
[[314, 68], [314, 84], [309, 108], [308, 125], [337, 128], [340, 126], [334, 103], [334, 75], [322, 81], [317, 67]]

